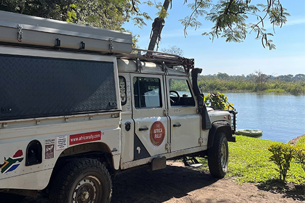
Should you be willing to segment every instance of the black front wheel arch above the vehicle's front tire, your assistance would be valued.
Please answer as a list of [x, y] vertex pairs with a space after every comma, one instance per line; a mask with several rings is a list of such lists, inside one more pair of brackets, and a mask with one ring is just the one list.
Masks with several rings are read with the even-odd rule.
[[214, 144], [214, 138], [218, 132], [223, 132], [229, 142], [235, 142], [235, 137], [232, 136], [231, 125], [227, 121], [216, 121], [212, 123], [212, 127], [208, 133], [207, 149], [211, 148]]

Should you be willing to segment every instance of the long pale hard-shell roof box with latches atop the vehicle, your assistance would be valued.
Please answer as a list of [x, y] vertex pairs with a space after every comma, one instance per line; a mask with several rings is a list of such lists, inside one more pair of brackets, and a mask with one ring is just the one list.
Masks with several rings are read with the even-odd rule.
[[130, 33], [0, 11], [0, 43], [130, 53]]

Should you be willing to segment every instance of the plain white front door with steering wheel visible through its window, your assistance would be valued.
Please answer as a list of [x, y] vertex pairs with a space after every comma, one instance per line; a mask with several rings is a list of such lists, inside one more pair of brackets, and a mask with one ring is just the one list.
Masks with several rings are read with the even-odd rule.
[[200, 146], [200, 115], [187, 77], [167, 76], [171, 152]]

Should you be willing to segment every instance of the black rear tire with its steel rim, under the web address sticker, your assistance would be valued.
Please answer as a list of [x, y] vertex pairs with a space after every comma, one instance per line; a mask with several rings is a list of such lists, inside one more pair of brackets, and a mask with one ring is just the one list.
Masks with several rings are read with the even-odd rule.
[[68, 162], [50, 185], [52, 203], [108, 203], [112, 183], [107, 168], [98, 160], [79, 158]]

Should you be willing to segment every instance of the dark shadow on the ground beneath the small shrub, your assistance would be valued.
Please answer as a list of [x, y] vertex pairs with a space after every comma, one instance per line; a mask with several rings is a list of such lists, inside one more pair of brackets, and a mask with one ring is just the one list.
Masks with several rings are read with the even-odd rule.
[[305, 200], [305, 187], [303, 184], [297, 185], [285, 183], [281, 180], [269, 180], [257, 185], [257, 188], [272, 193], [280, 193], [283, 197], [290, 197], [293, 200]]

